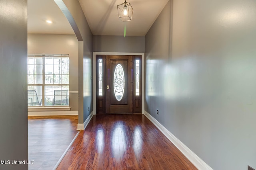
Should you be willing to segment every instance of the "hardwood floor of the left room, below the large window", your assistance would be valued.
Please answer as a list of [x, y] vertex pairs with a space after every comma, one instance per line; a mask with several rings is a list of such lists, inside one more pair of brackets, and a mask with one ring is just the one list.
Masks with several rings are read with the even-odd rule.
[[78, 116], [28, 116], [29, 170], [52, 170], [78, 131]]

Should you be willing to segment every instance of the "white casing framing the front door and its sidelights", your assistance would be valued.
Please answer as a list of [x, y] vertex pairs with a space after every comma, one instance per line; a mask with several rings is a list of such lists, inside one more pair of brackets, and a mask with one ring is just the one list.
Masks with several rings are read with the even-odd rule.
[[93, 114], [96, 115], [96, 55], [140, 55], [142, 57], [142, 114], [145, 110], [145, 53], [93, 52]]

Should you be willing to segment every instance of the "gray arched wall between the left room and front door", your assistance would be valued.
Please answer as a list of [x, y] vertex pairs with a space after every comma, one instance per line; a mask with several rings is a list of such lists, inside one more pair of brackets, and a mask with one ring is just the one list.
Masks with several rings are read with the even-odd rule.
[[[58, 4], [58, 1], [55, 0]], [[93, 110], [92, 32], [78, 0], [63, 0], [68, 18], [78, 39], [78, 123], [84, 123]], [[58, 4], [63, 5], [63, 4]]]

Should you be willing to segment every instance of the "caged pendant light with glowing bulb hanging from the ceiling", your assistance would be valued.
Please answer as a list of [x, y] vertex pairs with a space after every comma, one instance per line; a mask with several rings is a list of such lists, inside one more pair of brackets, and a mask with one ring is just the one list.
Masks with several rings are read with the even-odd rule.
[[124, 22], [132, 20], [133, 8], [130, 3], [126, 2], [126, 0], [124, 1], [124, 3], [117, 6], [117, 10], [118, 17], [121, 21]]

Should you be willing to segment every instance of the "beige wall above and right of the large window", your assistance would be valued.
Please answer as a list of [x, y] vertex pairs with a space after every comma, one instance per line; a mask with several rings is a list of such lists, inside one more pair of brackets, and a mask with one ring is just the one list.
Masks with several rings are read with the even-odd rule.
[[[28, 34], [28, 54], [68, 54], [70, 91], [78, 92], [78, 41], [75, 35]], [[78, 110], [78, 94], [70, 94], [71, 110]]]

